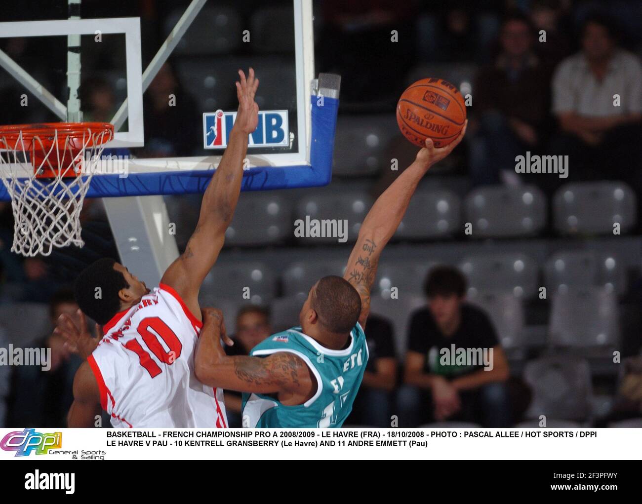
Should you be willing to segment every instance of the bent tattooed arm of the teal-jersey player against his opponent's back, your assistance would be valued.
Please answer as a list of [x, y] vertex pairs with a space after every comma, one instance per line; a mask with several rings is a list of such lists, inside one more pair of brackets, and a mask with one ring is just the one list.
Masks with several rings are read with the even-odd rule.
[[302, 404], [317, 390], [317, 380], [306, 363], [290, 352], [277, 352], [265, 358], [227, 356], [221, 339], [232, 341], [225, 333], [219, 310], [203, 308], [203, 322], [195, 356], [198, 381], [209, 387], [239, 392], [279, 394], [284, 404]]

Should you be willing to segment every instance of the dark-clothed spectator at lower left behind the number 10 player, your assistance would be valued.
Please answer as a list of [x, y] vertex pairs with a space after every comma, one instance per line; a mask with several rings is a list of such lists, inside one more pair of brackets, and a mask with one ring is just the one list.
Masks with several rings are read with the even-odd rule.
[[[56, 292], [49, 302], [51, 326], [63, 313], [80, 324], [78, 304], [71, 290]], [[8, 401], [7, 425], [12, 427], [60, 428], [67, 426], [67, 412], [73, 403], [73, 381], [82, 360], [65, 347], [60, 335], [45, 335], [29, 348], [51, 349], [49, 369], [39, 366], [13, 368]]]

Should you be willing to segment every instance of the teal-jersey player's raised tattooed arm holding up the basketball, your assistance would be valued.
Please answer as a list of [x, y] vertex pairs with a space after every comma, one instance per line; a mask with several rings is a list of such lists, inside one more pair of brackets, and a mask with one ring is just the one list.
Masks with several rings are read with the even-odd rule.
[[[466, 121], [466, 126], [467, 124]], [[370, 314], [370, 290], [377, 274], [377, 265], [383, 248], [399, 227], [421, 178], [433, 164], [453, 152], [464, 138], [466, 126], [457, 139], [446, 147], [437, 149], [433, 141], [427, 139], [426, 147], [417, 153], [415, 161], [377, 198], [361, 223], [357, 242], [352, 248], [345, 275], [343, 275], [343, 278], [349, 281], [361, 296], [359, 317], [361, 327], [365, 327]]]

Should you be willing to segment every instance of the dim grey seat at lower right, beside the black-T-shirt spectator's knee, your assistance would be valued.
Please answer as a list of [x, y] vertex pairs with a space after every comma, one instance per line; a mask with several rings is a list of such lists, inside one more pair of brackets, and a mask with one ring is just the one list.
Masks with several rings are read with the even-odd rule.
[[553, 419], [584, 421], [589, 416], [593, 389], [586, 360], [560, 355], [528, 361], [524, 379], [533, 392], [527, 418], [546, 415], [550, 425]]

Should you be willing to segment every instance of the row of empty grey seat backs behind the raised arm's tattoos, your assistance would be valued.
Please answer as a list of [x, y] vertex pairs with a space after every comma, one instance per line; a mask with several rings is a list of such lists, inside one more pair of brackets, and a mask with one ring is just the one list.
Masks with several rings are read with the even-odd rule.
[[[393, 290], [395, 295], [422, 295], [426, 275], [436, 265], [434, 261], [385, 259], [377, 270], [373, 297], [389, 299]], [[343, 259], [291, 263], [280, 275], [282, 295], [308, 295], [317, 279], [342, 276], [345, 266]], [[573, 289], [597, 288], [617, 299], [627, 291], [627, 269], [617, 252], [558, 251], [543, 268], [521, 252], [478, 254], [464, 257], [457, 266], [467, 278], [470, 298], [501, 292], [517, 299], [549, 299]], [[202, 291], [213, 300], [245, 296], [243, 299], [265, 303], [278, 293], [278, 276], [261, 261], [220, 263], [207, 275]]]

